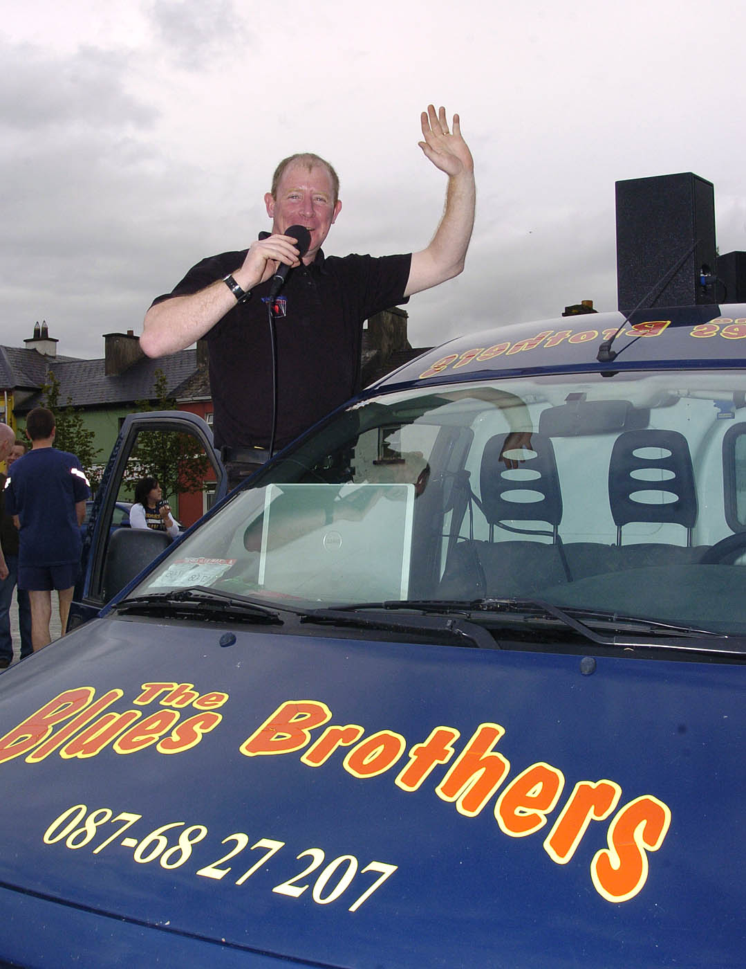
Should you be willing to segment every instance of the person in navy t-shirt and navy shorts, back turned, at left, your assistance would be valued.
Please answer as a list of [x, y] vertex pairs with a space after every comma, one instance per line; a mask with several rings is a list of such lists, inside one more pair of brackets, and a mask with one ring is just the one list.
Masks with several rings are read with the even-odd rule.
[[75, 454], [58, 451], [54, 415], [36, 407], [26, 419], [32, 449], [13, 464], [5, 483], [5, 508], [19, 529], [18, 588], [31, 600], [34, 651], [51, 639], [51, 590], [57, 590], [60, 625], [68, 624], [80, 561], [80, 524], [88, 480]]

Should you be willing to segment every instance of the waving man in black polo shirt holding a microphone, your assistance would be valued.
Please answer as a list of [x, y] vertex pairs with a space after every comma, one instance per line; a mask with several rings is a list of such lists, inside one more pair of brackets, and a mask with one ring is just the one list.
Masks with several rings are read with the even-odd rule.
[[[266, 460], [272, 427], [273, 366], [267, 325], [271, 277], [289, 266], [273, 300], [277, 331], [277, 445], [294, 437], [358, 390], [363, 323], [463, 271], [474, 223], [471, 152], [459, 115], [422, 113], [426, 157], [448, 176], [445, 210], [421, 252], [373, 258], [324, 256], [321, 245], [342, 209], [339, 179], [313, 154], [286, 158], [264, 196], [272, 234], [248, 249], [202, 260], [145, 315], [140, 346], [149, 357], [183, 350], [205, 336], [215, 407], [215, 443], [235, 486]], [[310, 234], [301, 257], [287, 230]], [[265, 234], [266, 235], [266, 234]]]

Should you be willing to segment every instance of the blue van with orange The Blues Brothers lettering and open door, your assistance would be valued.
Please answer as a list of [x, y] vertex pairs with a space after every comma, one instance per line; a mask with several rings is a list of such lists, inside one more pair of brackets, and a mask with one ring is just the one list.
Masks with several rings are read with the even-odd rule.
[[[746, 305], [463, 337], [0, 675], [0, 964], [744, 964]], [[142, 571], [144, 569], [144, 571]], [[83, 620], [88, 620], [83, 622]]]

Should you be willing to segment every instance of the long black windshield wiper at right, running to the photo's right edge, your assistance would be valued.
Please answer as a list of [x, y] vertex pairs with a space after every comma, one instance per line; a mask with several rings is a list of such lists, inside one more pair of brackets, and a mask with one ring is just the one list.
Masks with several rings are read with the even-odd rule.
[[[616, 648], [629, 646], [689, 651], [695, 649], [701, 652], [723, 654], [746, 652], [746, 643], [740, 637], [733, 638], [724, 633], [697, 629], [693, 626], [679, 626], [655, 619], [619, 615], [602, 610], [561, 609], [543, 599], [386, 600], [342, 606], [338, 611], [358, 612], [360, 610], [414, 610], [425, 615], [457, 613], [473, 622], [488, 618], [491, 622], [506, 623], [540, 622], [542, 625], [555, 625], [559, 622], [586, 640], [601, 646]], [[599, 627], [609, 626], [616, 631], [616, 635], [603, 636], [596, 632]], [[702, 645], [702, 640], [707, 641], [706, 646]], [[717, 643], [713, 643], [713, 640]], [[695, 645], [692, 641], [698, 641], [698, 643]]]

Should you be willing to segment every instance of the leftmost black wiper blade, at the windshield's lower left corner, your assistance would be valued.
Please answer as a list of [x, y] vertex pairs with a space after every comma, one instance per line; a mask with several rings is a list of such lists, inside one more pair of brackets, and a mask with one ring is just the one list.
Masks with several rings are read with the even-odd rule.
[[188, 618], [232, 618], [267, 625], [283, 625], [276, 610], [205, 585], [191, 585], [183, 589], [170, 589], [168, 592], [151, 592], [133, 599], [123, 599], [112, 608], [117, 612], [142, 612], [150, 615], [175, 613]]

